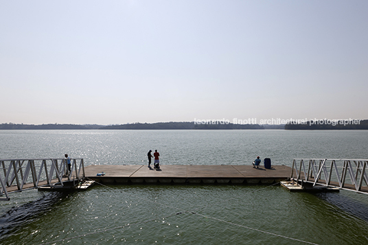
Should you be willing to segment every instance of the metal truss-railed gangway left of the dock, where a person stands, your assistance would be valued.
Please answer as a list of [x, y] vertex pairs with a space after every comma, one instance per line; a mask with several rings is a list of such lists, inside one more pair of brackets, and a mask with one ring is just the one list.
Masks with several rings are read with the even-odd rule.
[[63, 187], [68, 182], [79, 182], [85, 177], [83, 159], [70, 159], [71, 171], [68, 170], [67, 161], [0, 159], [0, 200], [10, 200], [9, 194], [16, 191], [56, 185]]

